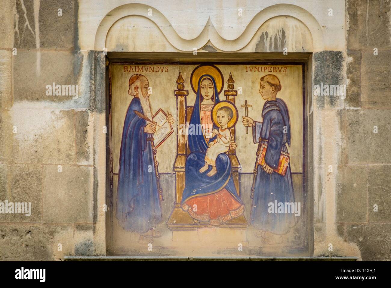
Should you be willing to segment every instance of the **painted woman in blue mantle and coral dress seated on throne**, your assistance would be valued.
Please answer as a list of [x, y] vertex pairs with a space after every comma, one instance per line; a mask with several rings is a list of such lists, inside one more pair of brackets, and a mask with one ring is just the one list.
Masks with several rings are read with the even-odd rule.
[[208, 143], [217, 137], [212, 132], [217, 127], [212, 122], [211, 111], [220, 100], [215, 78], [210, 74], [203, 74], [199, 78], [196, 92], [189, 127], [202, 129], [192, 129], [188, 133], [190, 154], [185, 164], [185, 189], [181, 207], [195, 223], [217, 226], [242, 215], [244, 204], [233, 183], [231, 162], [226, 153], [217, 156], [216, 174], [207, 176], [212, 166], [204, 173], [199, 172], [204, 166]]

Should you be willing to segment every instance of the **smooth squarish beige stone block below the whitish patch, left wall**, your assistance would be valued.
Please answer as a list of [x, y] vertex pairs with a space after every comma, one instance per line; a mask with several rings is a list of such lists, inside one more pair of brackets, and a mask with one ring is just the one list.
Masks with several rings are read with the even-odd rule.
[[93, 168], [44, 165], [43, 203], [45, 223], [92, 223]]

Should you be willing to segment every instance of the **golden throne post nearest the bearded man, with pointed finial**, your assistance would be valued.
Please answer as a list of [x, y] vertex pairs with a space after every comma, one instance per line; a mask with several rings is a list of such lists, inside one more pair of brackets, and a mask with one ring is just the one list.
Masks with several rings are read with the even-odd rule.
[[185, 90], [182, 74], [179, 71], [176, 80], [177, 90], [174, 91], [176, 96], [176, 123], [177, 123], [177, 156], [174, 163], [174, 172], [176, 173], [176, 192], [175, 192], [175, 207], [180, 207], [182, 192], [185, 189], [185, 162], [186, 162], [186, 97], [189, 94]]

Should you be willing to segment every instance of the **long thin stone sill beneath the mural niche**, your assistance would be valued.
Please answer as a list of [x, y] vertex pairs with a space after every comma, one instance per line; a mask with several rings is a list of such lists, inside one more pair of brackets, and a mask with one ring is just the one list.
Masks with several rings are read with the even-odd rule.
[[358, 257], [65, 256], [65, 261], [357, 261]]

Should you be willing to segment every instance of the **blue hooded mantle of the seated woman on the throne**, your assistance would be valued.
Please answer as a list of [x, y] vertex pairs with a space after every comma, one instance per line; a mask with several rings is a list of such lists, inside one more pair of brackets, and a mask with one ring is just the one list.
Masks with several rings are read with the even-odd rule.
[[[198, 127], [196, 125], [201, 124], [200, 117], [200, 85], [204, 77], [208, 77], [212, 79], [213, 87], [214, 87], [214, 95], [215, 95], [215, 103], [220, 101], [219, 94], [217, 93], [216, 83], [212, 76], [203, 75], [199, 78], [198, 81], [198, 90], [197, 96], [195, 98], [193, 113], [190, 118], [190, 125], [195, 125], [194, 127]], [[213, 129], [218, 129], [215, 125], [213, 125]], [[198, 131], [197, 129], [195, 129]], [[213, 141], [217, 136], [211, 138], [209, 141]], [[217, 156], [216, 159], [216, 170], [217, 173], [212, 177], [207, 176], [206, 174], [212, 170], [212, 166], [206, 170], [204, 173], [200, 173], [199, 169], [205, 164], [205, 154], [206, 149], [208, 149], [208, 142], [206, 142], [206, 138], [204, 134], [189, 134], [188, 135], [188, 145], [190, 149], [190, 154], [186, 158], [185, 164], [185, 189], [182, 194], [182, 203], [185, 203], [188, 199], [195, 196], [204, 196], [208, 194], [213, 194], [215, 192], [219, 192], [222, 188], [226, 188], [228, 192], [230, 192], [237, 201], [242, 203], [240, 200], [235, 185], [233, 184], [233, 180], [231, 177], [231, 161], [226, 153], [221, 153]]]

